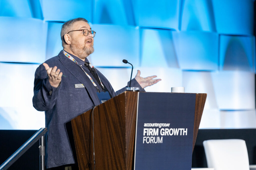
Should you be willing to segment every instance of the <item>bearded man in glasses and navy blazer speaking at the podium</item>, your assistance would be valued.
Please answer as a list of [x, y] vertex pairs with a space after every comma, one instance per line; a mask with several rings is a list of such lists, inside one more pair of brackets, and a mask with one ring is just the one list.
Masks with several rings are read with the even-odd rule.
[[[115, 93], [109, 81], [86, 58], [94, 51], [94, 36], [84, 18], [65, 22], [61, 28], [63, 50], [35, 72], [33, 106], [45, 111], [47, 168], [64, 168], [75, 163], [67, 122], [99, 105], [101, 94], [109, 93], [110, 98], [125, 91], [123, 88]], [[140, 77], [138, 71], [131, 86], [145, 91], [143, 88], [160, 81], [153, 80], [155, 77]]]

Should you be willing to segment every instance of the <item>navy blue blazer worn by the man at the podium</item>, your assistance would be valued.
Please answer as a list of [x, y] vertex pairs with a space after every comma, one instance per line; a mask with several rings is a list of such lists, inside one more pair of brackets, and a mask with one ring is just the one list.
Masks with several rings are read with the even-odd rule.
[[[49, 67], [57, 66], [62, 76], [59, 87], [52, 87], [47, 79], [45, 67], [41, 64], [35, 72], [33, 106], [45, 111], [46, 167], [73, 164], [74, 156], [70, 147], [66, 123], [74, 117], [100, 104], [96, 88], [83, 70], [67, 58], [62, 51], [58, 56], [45, 61]], [[125, 91], [125, 87], [116, 93], [109, 81], [98, 70], [97, 73], [112, 97]], [[83, 84], [85, 88], [75, 88], [74, 84]], [[129, 82], [127, 83], [129, 84]], [[133, 79], [133, 87], [140, 87]], [[141, 88], [142, 89], [142, 88]], [[145, 91], [142, 89], [141, 91]]]

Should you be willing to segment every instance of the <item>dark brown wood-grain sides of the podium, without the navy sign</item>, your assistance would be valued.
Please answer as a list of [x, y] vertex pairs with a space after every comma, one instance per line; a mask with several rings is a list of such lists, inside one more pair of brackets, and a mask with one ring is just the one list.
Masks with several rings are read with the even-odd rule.
[[[196, 94], [193, 149], [206, 96]], [[93, 150], [95, 169], [134, 168], [137, 101], [126, 91], [71, 120], [79, 169], [93, 169]]]

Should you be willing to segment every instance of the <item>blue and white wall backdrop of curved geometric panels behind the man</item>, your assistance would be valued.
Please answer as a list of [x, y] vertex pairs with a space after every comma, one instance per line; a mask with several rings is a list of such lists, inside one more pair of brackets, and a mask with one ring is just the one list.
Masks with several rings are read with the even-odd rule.
[[207, 93], [200, 128], [255, 128], [253, 0], [0, 0], [0, 129], [39, 129], [34, 73], [62, 49], [64, 21], [96, 33], [88, 59], [118, 90], [134, 73], [162, 79], [146, 91]]

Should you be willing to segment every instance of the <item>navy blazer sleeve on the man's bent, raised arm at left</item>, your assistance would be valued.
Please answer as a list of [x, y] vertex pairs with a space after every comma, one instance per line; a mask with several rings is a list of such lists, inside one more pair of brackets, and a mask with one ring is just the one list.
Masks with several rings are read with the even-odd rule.
[[52, 109], [58, 97], [58, 87], [52, 87], [47, 78], [44, 66], [41, 64], [35, 72], [33, 106], [38, 111]]

